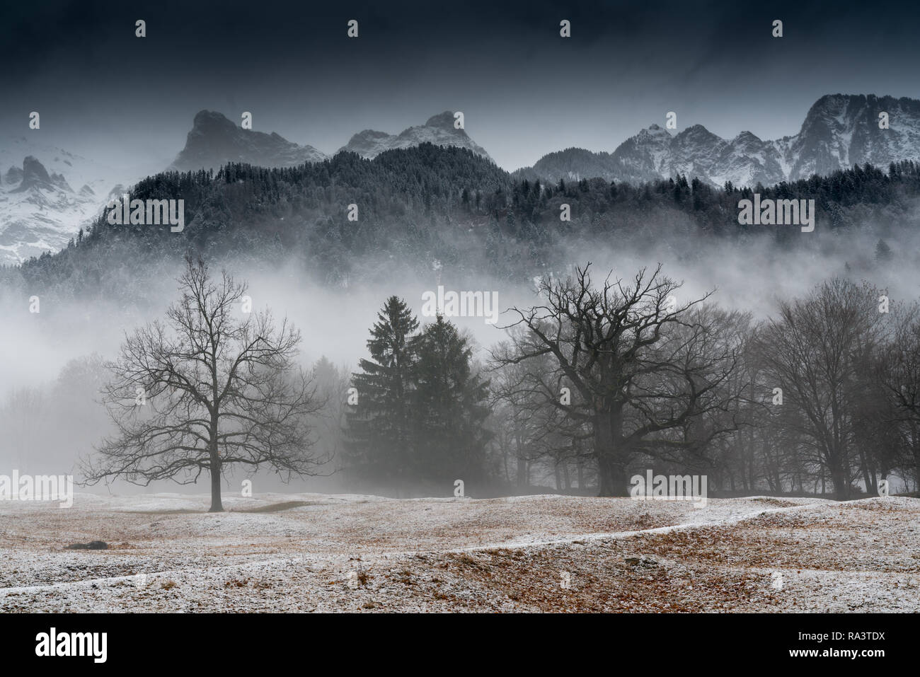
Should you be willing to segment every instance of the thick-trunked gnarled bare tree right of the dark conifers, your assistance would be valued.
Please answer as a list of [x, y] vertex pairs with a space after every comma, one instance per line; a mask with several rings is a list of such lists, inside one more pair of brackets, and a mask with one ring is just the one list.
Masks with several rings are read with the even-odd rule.
[[[692, 312], [708, 294], [676, 303], [680, 285], [662, 276], [661, 266], [651, 274], [640, 270], [631, 282], [608, 277], [600, 289], [589, 267], [566, 281], [543, 281], [546, 304], [512, 308], [518, 316], [512, 327], [525, 331], [492, 357], [499, 365], [550, 358], [552, 368], [523, 372], [518, 394], [543, 397], [573, 431], [589, 430], [600, 494], [625, 495], [627, 465], [638, 453], [701, 448], [721, 434], [724, 420], [715, 417], [692, 434], [661, 433], [737, 408], [737, 394], [722, 387], [737, 354], [713, 336], [705, 315]], [[562, 387], [570, 388], [570, 401], [559, 396]]]

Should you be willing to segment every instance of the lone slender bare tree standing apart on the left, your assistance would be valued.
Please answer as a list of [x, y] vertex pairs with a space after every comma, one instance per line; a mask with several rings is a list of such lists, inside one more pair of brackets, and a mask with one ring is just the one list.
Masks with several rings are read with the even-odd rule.
[[293, 358], [300, 332], [270, 311], [241, 313], [245, 282], [214, 281], [186, 259], [181, 299], [126, 335], [103, 401], [116, 432], [83, 463], [86, 484], [123, 477], [142, 486], [211, 477], [212, 512], [223, 511], [221, 477], [234, 465], [270, 466], [285, 481], [315, 475], [310, 416], [323, 403]]

